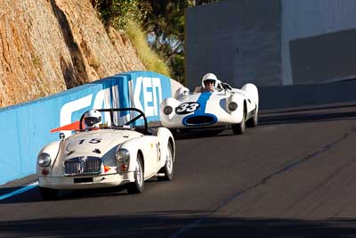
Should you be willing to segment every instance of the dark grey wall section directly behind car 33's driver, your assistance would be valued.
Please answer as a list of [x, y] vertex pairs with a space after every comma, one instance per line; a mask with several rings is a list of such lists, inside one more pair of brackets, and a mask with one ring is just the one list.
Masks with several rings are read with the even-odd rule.
[[231, 0], [186, 10], [186, 78], [206, 72], [234, 86], [281, 85], [280, 1]]

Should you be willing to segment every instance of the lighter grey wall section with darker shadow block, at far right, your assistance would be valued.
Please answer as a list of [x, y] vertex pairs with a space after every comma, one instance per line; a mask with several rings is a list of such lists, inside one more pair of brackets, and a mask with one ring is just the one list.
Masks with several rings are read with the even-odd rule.
[[356, 29], [356, 1], [282, 0], [281, 12], [283, 85], [356, 78], [356, 31], [344, 31]]

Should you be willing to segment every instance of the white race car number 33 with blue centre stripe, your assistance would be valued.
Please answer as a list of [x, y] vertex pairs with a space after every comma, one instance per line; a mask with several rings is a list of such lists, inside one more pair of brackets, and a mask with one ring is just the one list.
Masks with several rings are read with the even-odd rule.
[[160, 104], [164, 127], [176, 129], [231, 126], [235, 135], [258, 122], [258, 90], [254, 84], [241, 89], [218, 81], [214, 92], [193, 93], [187, 87], [177, 89], [174, 97]]

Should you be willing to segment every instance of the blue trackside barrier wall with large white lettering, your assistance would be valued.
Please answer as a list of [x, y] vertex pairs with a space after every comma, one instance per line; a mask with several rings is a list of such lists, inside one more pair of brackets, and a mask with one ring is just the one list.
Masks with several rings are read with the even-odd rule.
[[58, 133], [50, 133], [53, 128], [77, 121], [92, 108], [136, 107], [149, 122], [159, 120], [159, 103], [177, 86], [173, 79], [155, 72], [127, 72], [0, 109], [0, 185], [36, 172], [37, 152], [58, 140]]

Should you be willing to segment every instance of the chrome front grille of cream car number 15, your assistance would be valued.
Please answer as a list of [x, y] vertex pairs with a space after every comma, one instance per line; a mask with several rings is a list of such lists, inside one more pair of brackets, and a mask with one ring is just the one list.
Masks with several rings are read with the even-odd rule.
[[64, 162], [64, 175], [93, 175], [101, 173], [101, 158], [83, 156]]

